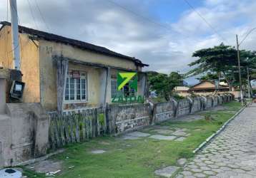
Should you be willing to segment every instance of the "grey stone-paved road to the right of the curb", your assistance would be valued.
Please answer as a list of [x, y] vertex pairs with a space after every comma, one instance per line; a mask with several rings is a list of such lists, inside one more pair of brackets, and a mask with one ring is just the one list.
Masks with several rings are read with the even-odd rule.
[[256, 105], [235, 117], [177, 177], [256, 177]]

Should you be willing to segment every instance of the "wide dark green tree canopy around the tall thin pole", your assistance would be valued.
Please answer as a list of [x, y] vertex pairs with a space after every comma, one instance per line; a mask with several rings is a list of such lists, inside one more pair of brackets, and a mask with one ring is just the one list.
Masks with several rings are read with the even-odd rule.
[[[225, 46], [223, 43], [220, 46], [214, 46], [213, 48], [204, 48], [193, 53], [192, 57], [198, 59], [189, 66], [194, 67], [190, 70], [186, 76], [195, 76], [199, 74], [207, 75], [202, 78], [211, 79], [214, 75], [219, 75], [225, 78], [225, 81], [230, 86], [238, 85], [238, 62], [237, 62], [237, 50], [232, 46]], [[252, 73], [256, 68], [256, 53], [255, 51], [240, 51], [240, 65], [242, 82], [246, 82], [247, 67]]]

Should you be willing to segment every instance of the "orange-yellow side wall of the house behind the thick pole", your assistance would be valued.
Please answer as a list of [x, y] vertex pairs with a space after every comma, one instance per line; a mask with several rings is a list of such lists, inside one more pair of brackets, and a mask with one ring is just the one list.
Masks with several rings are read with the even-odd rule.
[[[40, 103], [39, 90], [39, 45], [29, 39], [25, 33], [19, 33], [22, 81], [26, 83], [22, 102]], [[0, 66], [14, 69], [11, 46], [11, 27], [4, 26], [0, 31]]]

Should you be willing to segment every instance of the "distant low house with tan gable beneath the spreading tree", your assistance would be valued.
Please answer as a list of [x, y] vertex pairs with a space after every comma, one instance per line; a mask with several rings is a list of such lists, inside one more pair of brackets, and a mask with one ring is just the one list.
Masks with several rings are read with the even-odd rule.
[[[226, 92], [229, 91], [229, 88], [227, 85], [219, 85], [218, 86], [219, 92]], [[207, 93], [207, 92], [215, 92], [216, 86], [215, 83], [208, 80], [202, 80], [200, 83], [197, 83], [196, 85], [192, 86], [189, 89], [189, 92], [192, 93]]]

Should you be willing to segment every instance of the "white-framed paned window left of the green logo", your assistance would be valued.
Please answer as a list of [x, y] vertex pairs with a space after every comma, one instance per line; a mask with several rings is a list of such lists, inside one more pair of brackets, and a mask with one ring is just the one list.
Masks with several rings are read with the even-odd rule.
[[87, 102], [87, 73], [69, 70], [67, 73], [65, 103]]

